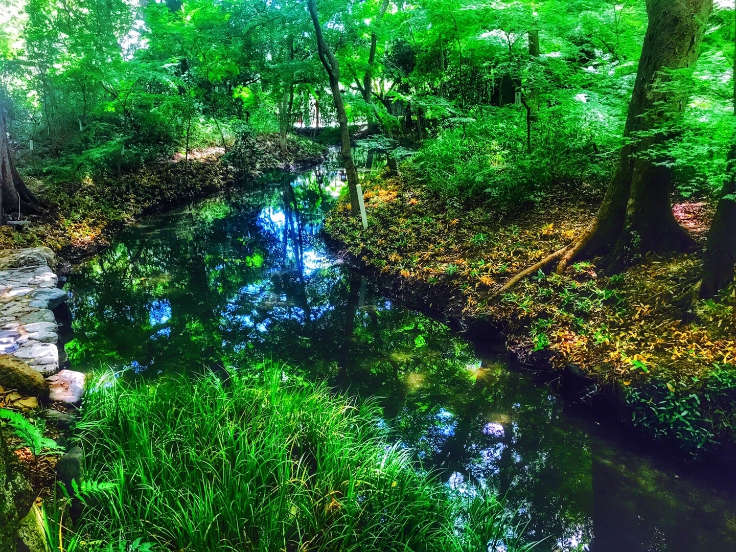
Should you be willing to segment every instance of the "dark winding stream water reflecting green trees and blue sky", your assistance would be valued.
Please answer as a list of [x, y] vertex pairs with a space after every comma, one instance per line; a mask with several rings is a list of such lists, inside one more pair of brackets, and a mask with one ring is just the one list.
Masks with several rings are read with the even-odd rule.
[[68, 282], [73, 366], [155, 377], [283, 364], [383, 397], [381, 423], [451, 486], [506, 495], [528, 534], [548, 537], [539, 550], [736, 551], [734, 477], [601, 436], [330, 258], [319, 228], [341, 183], [326, 172], [277, 174], [127, 230]]

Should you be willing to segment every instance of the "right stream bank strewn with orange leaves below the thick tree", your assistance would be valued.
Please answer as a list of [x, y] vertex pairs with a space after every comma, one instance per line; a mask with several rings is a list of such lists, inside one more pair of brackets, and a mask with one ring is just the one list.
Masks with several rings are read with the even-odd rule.
[[[392, 294], [527, 367], [556, 373], [590, 406], [615, 408], [687, 456], [736, 463], [734, 300], [698, 304], [690, 322], [673, 305], [697, 280], [697, 255], [645, 259], [613, 277], [581, 262], [497, 295], [584, 230], [590, 206], [550, 199], [503, 214], [448, 205], [412, 171], [373, 177], [364, 190], [369, 231], [342, 202], [325, 233]], [[702, 241], [707, 209], [682, 204], [675, 213]]]

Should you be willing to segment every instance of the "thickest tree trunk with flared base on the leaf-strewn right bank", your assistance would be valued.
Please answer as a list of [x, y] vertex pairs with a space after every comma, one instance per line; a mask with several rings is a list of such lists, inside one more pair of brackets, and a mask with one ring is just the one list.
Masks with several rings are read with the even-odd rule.
[[[693, 240], [677, 223], [670, 204], [673, 171], [641, 154], [665, 141], [651, 132], [682, 110], [684, 98], [662, 91], [662, 72], [691, 66], [712, 0], [647, 0], [649, 25], [623, 135], [626, 145], [606, 197], [590, 230], [562, 258], [558, 271], [573, 258], [606, 255], [602, 263], [615, 272], [647, 252], [682, 251]], [[641, 137], [641, 132], [648, 135]]]

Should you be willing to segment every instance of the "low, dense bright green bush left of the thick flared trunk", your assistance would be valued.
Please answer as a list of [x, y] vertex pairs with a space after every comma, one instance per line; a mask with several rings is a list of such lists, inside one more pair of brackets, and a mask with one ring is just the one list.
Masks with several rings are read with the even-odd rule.
[[570, 101], [542, 110], [531, 154], [523, 110], [474, 110], [426, 141], [411, 164], [443, 197], [479, 198], [500, 210], [572, 189], [577, 197], [598, 197], [611, 174], [615, 139], [584, 106]]

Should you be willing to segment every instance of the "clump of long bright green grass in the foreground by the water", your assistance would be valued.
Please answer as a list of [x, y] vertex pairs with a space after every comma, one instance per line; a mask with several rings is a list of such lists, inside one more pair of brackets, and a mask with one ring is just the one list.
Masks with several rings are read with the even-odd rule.
[[525, 548], [498, 500], [417, 470], [379, 414], [280, 374], [108, 378], [77, 428], [88, 478], [115, 490], [79, 531], [191, 552]]

